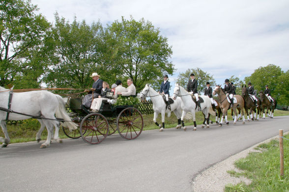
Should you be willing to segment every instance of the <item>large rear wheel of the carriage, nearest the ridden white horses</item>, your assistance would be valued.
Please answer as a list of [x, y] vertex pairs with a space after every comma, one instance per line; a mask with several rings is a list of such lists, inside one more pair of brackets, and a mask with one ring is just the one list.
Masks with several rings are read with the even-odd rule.
[[142, 113], [132, 107], [122, 110], [117, 116], [116, 126], [121, 137], [127, 140], [136, 139], [144, 128]]

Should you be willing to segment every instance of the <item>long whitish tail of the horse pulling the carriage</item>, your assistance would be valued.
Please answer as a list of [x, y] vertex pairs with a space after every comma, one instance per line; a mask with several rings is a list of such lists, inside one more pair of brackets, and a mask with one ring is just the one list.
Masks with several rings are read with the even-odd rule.
[[64, 127], [68, 127], [69, 130], [75, 130], [77, 129], [77, 125], [71, 121], [71, 118], [68, 116], [66, 109], [65, 109], [65, 102], [63, 100], [63, 98], [59, 95], [56, 95], [57, 99], [58, 99], [58, 107], [56, 109], [55, 112], [55, 116], [57, 118], [63, 119], [65, 121], [60, 121], [60, 123], [62, 124], [62, 126]]

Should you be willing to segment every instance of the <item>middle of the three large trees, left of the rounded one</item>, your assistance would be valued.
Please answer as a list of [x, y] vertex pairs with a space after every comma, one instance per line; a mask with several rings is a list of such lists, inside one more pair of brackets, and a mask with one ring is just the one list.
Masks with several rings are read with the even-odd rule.
[[[91, 87], [90, 75], [97, 71], [99, 33], [101, 24], [87, 25], [83, 20], [72, 24], [55, 14], [55, 26], [48, 39], [52, 42], [54, 54], [51, 55], [49, 71], [45, 74], [44, 82], [48, 86], [62, 88]], [[98, 72], [100, 73], [100, 72]]]

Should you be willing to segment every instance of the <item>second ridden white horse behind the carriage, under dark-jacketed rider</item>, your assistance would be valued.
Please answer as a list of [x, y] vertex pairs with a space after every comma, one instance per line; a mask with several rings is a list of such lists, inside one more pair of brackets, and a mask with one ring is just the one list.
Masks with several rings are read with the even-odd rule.
[[[174, 90], [173, 90], [173, 99], [176, 99], [177, 96], [181, 98], [181, 108], [183, 110], [182, 116], [181, 116], [181, 124], [184, 130], [186, 130], [186, 127], [184, 125], [184, 117], [187, 115], [188, 112], [192, 113], [193, 115], [193, 121], [194, 121], [194, 131], [197, 130], [197, 123], [196, 123], [196, 103], [193, 101], [192, 96], [187, 92], [183, 87], [180, 86], [179, 83], [175, 84]], [[212, 109], [211, 100], [208, 96], [200, 96], [203, 99], [203, 103], [201, 103], [202, 113], [204, 115], [204, 122], [202, 124], [202, 128], [207, 126], [209, 128], [209, 113], [211, 115], [216, 115], [216, 113]], [[205, 124], [204, 124], [205, 123]]]

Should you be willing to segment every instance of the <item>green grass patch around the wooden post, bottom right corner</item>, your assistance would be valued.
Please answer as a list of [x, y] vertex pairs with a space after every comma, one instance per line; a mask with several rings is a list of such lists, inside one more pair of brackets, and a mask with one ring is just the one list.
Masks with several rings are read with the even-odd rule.
[[[289, 135], [285, 138], [289, 139]], [[239, 183], [226, 185], [225, 192], [289, 192], [289, 141], [284, 139], [284, 176], [280, 176], [279, 140], [260, 144], [261, 152], [251, 152], [235, 162], [242, 172], [228, 171], [231, 176], [244, 176], [252, 180], [250, 185]]]

